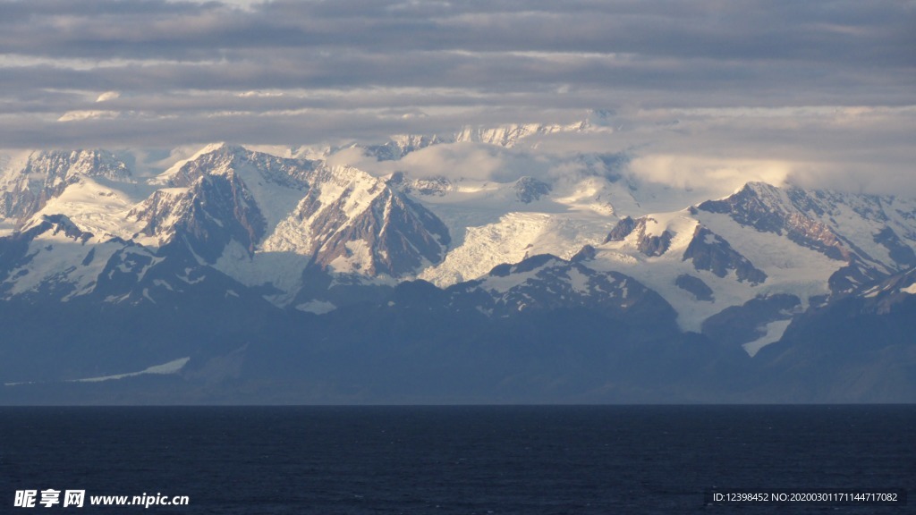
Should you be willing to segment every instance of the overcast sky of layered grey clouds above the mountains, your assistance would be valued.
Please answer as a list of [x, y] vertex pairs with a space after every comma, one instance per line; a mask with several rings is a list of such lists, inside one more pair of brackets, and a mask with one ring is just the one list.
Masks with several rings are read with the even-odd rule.
[[377, 141], [599, 108], [652, 173], [674, 156], [899, 184], [914, 106], [912, 0], [0, 2], [2, 148]]

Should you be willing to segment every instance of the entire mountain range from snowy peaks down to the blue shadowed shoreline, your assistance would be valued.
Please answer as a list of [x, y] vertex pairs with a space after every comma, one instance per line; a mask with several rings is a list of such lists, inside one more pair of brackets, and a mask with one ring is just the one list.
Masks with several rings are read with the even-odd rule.
[[0, 402], [916, 400], [916, 199], [408, 166], [604, 130], [0, 161]]

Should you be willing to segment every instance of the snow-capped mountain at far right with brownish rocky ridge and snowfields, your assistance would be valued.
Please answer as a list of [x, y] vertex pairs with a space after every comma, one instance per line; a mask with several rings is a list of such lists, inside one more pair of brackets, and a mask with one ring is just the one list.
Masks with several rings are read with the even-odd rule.
[[912, 200], [748, 183], [680, 212], [622, 219], [596, 247], [595, 266], [644, 281], [693, 331], [777, 299], [782, 309], [737, 342], [755, 353], [812, 303], [910, 268], [916, 235], [905, 221], [914, 208]]

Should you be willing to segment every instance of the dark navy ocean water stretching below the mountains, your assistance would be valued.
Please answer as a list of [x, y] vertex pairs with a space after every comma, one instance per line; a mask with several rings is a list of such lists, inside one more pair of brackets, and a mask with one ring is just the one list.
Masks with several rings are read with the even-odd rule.
[[[0, 408], [0, 513], [902, 514], [703, 493], [912, 494], [914, 430], [916, 406]], [[85, 506], [14, 506], [48, 488]], [[190, 504], [88, 506], [143, 494]]]

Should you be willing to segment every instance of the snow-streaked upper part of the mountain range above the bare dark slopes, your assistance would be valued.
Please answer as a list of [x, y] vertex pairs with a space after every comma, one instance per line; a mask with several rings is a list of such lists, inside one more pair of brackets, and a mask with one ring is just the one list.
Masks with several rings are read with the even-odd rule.
[[[671, 356], [689, 354], [678, 345], [699, 338], [710, 363], [729, 356], [733, 364], [744, 363], [735, 350], [762, 363], [757, 356], [820, 327], [827, 315], [818, 313], [838, 316], [850, 299], [861, 303], [856, 312], [876, 316], [911, 304], [913, 199], [749, 182], [724, 198], [679, 205], [683, 192], [666, 196], [628, 176], [618, 156], [601, 154], [563, 157], [554, 167], [563, 173], [398, 170], [424, 148], [510, 148], [590, 130], [608, 129], [464, 129], [359, 148], [360, 159], [387, 163], [384, 172], [332, 154], [280, 157], [218, 144], [139, 177], [104, 150], [33, 152], [7, 160], [0, 175], [0, 301], [162, 316], [203, 302], [272, 313], [282, 322], [261, 329], [271, 338], [289, 338], [308, 320], [314, 334], [336, 327], [354, 342], [367, 336], [344, 322], [352, 317], [410, 326], [401, 317], [430, 310], [445, 324], [492, 328], [562, 324], [557, 313], [573, 313]], [[187, 316], [182, 324], [195, 319]], [[227, 342], [255, 348], [254, 327], [239, 333], [244, 341]], [[386, 331], [420, 337], [398, 327]], [[463, 331], [442, 338], [490, 337]], [[150, 345], [148, 358], [158, 361], [123, 357], [128, 372], [193, 354]], [[214, 349], [227, 345], [197, 352], [217, 359]]]

